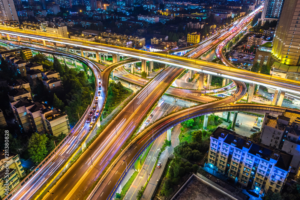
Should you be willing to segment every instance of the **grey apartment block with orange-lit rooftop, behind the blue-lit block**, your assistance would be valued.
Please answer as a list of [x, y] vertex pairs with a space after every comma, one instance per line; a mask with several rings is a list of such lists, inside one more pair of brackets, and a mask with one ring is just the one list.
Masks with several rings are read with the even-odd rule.
[[300, 175], [300, 112], [286, 110], [277, 118], [264, 118], [261, 142], [293, 155], [291, 172]]

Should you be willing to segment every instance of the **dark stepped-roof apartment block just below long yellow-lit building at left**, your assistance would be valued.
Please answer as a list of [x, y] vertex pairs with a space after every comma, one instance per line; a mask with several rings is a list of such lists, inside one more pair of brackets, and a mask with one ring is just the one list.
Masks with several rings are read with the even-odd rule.
[[19, 56], [14, 55], [6, 55], [5, 60], [7, 62], [8, 67], [14, 73], [19, 73], [22, 77], [27, 76], [25, 65], [29, 63], [28, 61], [23, 60]]

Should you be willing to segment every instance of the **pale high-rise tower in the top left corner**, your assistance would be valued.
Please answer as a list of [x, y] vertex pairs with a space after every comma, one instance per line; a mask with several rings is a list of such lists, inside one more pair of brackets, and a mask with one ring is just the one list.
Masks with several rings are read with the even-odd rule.
[[0, 22], [18, 21], [13, 0], [0, 0]]

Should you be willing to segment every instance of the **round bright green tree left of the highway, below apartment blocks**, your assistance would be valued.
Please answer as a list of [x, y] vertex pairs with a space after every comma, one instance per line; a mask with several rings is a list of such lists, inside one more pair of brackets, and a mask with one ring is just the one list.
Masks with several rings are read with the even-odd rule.
[[40, 163], [44, 160], [47, 155], [47, 144], [48, 138], [45, 134], [33, 133], [28, 141], [28, 152], [29, 156], [35, 163]]

